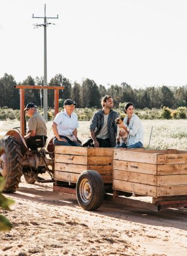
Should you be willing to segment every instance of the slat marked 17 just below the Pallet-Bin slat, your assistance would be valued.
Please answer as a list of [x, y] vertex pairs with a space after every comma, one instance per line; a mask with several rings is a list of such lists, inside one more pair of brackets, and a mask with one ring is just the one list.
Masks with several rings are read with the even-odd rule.
[[187, 164], [158, 164], [158, 175], [187, 174]]

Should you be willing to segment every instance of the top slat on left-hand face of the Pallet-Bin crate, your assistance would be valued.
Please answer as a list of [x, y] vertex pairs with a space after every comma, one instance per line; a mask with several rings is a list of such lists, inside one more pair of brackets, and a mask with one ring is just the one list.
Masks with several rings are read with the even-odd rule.
[[145, 153], [144, 151], [114, 150], [115, 160], [136, 161], [138, 163], [157, 164], [157, 153]]

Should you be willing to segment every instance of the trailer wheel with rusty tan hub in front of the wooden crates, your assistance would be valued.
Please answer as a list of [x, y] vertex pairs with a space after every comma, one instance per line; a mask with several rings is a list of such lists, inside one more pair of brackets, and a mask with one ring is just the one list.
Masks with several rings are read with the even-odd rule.
[[77, 180], [77, 200], [84, 210], [96, 210], [103, 201], [104, 184], [97, 171], [83, 171]]

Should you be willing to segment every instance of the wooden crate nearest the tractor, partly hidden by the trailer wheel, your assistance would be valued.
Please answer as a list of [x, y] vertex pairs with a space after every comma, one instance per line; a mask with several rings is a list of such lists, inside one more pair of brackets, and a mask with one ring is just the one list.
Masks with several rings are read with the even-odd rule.
[[101, 174], [103, 183], [112, 184], [113, 148], [101, 147], [55, 147], [54, 180], [77, 183], [85, 170]]

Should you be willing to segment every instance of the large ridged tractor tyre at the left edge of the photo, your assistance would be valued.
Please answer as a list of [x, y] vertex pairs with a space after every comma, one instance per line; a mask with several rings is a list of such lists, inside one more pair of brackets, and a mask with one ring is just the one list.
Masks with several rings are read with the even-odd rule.
[[22, 154], [12, 136], [5, 135], [0, 140], [0, 174], [5, 178], [4, 192], [15, 192], [22, 176]]

